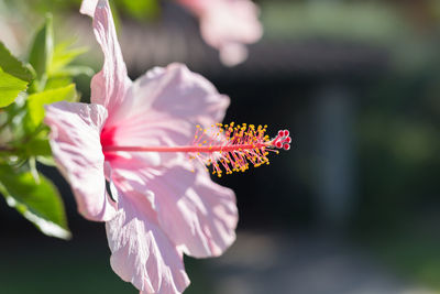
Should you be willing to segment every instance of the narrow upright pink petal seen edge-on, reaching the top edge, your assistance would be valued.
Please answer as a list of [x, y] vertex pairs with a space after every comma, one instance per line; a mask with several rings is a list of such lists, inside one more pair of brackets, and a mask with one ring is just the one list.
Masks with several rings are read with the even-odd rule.
[[91, 79], [90, 100], [92, 104], [105, 106], [111, 119], [116, 108], [122, 104], [131, 80], [127, 76], [125, 63], [107, 0], [99, 0], [96, 7], [94, 32], [101, 45], [105, 62], [101, 72]]

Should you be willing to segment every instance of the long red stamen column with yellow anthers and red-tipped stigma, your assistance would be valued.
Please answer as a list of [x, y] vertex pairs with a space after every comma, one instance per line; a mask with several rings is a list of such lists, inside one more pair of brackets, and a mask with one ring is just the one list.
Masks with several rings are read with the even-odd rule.
[[270, 139], [267, 126], [246, 123], [235, 126], [217, 123], [210, 129], [196, 126], [193, 144], [184, 146], [114, 146], [103, 145], [103, 152], [184, 152], [190, 160], [198, 160], [207, 166], [212, 165], [212, 174], [219, 177], [223, 171], [244, 172], [250, 164], [257, 167], [268, 164], [270, 152], [279, 153], [276, 149], [290, 149], [292, 138], [288, 130], [280, 130], [277, 137]]

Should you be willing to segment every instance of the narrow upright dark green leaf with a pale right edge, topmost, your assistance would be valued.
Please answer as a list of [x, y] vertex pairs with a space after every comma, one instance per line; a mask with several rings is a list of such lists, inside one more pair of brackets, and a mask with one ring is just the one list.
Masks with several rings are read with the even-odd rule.
[[[44, 80], [52, 63], [54, 53], [54, 30], [52, 15], [46, 15], [46, 21], [38, 30], [32, 44], [29, 62], [35, 69], [37, 79]], [[44, 88], [44, 87], [43, 87]]]

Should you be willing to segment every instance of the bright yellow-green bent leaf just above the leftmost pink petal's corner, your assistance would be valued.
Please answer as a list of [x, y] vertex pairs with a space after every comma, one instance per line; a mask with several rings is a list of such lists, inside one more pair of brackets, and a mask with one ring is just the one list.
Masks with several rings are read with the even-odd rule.
[[38, 126], [44, 119], [44, 105], [57, 101], [74, 101], [76, 99], [75, 84], [67, 87], [45, 90], [32, 94], [28, 97], [29, 116], [34, 126]]

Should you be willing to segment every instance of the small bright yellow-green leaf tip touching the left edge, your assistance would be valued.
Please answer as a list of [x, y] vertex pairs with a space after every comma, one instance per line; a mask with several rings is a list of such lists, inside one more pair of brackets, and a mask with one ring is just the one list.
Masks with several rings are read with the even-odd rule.
[[0, 67], [0, 107], [12, 104], [28, 88], [28, 81], [4, 73]]

